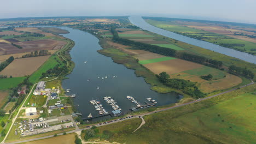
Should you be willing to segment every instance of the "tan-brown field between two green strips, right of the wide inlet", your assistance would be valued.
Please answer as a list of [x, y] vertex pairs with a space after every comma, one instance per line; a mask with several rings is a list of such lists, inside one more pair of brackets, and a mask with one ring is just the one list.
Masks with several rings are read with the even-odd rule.
[[202, 65], [189, 61], [184, 61], [182, 59], [172, 59], [169, 61], [163, 61], [158, 63], [144, 64], [144, 67], [153, 71], [153, 73], [155, 74], [160, 74], [162, 73], [162, 71], [165, 71], [167, 74], [171, 75], [185, 70], [200, 68], [202, 67]]

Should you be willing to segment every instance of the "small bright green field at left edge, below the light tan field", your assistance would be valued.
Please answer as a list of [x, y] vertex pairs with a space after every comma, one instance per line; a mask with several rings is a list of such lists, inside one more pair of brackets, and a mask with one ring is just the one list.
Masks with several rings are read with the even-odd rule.
[[21, 83], [24, 79], [25, 76], [0, 79], [0, 90], [17, 87], [18, 84]]

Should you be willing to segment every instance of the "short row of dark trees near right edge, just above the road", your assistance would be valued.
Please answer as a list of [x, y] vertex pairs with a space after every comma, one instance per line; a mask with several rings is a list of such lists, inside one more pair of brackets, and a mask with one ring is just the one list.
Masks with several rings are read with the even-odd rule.
[[237, 67], [236, 65], [229, 66], [229, 73], [243, 75], [243, 76], [249, 77], [251, 79], [254, 78], [254, 74], [251, 70], [249, 70], [247, 68], [240, 68], [240, 67]]

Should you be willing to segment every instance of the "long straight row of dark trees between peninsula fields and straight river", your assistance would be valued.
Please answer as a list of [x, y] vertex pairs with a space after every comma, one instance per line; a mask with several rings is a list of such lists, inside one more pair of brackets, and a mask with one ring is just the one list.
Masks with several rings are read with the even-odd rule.
[[165, 56], [177, 57], [177, 58], [184, 59], [186, 61], [200, 63], [200, 64], [207, 65], [209, 67], [224, 70], [222, 68], [223, 63], [221, 61], [216, 61], [214, 59], [206, 58], [206, 57], [203, 57], [203, 56], [193, 55], [193, 54], [190, 54], [190, 53], [187, 53], [187, 52], [179, 52], [179, 51], [169, 49], [169, 48], [166, 48], [166, 47], [150, 45], [150, 44], [141, 43], [141, 42], [138, 42], [138, 41], [133, 41], [133, 40], [129, 40], [129, 39], [120, 38], [119, 35], [118, 35], [118, 32], [115, 31], [115, 27], [112, 27], [110, 29], [110, 32], [112, 32], [112, 34], [113, 34], [113, 41], [115, 43], [119, 43], [119, 44], [123, 44], [123, 45], [129, 45], [129, 46], [134, 47], [135, 49], [146, 50], [146, 51], [158, 53], [160, 55], [165, 55]]

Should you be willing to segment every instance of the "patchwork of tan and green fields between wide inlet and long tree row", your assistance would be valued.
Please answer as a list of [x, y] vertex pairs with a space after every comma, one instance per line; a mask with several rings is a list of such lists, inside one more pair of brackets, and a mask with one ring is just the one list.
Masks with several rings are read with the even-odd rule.
[[[144, 67], [148, 68], [154, 74], [160, 74], [162, 71], [165, 71], [172, 79], [197, 82], [199, 89], [205, 93], [228, 89], [242, 83], [242, 79], [238, 76], [178, 58], [165, 59], [165, 56], [151, 52], [141, 53], [133, 57], [138, 58], [139, 63], [143, 64]], [[164, 60], [162, 61], [162, 59]], [[200, 77], [208, 74], [213, 76], [213, 79], [210, 81]]]

